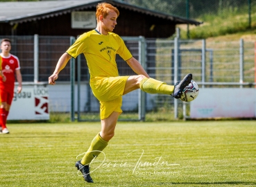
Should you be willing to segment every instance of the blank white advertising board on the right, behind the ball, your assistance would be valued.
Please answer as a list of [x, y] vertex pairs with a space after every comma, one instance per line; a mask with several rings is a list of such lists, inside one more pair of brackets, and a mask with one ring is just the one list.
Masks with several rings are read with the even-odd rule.
[[256, 89], [204, 88], [190, 104], [190, 118], [255, 118]]

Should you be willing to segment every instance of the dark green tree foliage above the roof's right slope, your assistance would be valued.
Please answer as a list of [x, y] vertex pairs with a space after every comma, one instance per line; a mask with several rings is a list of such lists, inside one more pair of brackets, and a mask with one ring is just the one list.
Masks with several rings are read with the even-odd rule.
[[[169, 15], [196, 19], [205, 14], [219, 15], [223, 10], [228, 12], [244, 12], [248, 1], [244, 0], [120, 0], [136, 6], [166, 12]], [[189, 11], [187, 11], [189, 3]]]

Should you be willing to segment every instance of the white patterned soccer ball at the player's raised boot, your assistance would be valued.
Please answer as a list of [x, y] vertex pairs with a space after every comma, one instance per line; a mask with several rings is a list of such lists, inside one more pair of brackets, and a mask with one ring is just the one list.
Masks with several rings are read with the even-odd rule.
[[191, 80], [191, 83], [185, 87], [182, 91], [182, 95], [180, 100], [185, 101], [185, 102], [191, 102], [192, 100], [195, 100], [196, 97], [199, 94], [199, 87], [194, 80]]

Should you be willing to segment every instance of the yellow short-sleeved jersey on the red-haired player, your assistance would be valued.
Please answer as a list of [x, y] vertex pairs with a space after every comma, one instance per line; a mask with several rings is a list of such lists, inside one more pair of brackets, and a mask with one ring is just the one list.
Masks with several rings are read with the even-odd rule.
[[133, 57], [119, 35], [101, 35], [96, 30], [80, 35], [66, 52], [74, 58], [81, 53], [85, 55], [91, 78], [116, 77], [119, 75], [116, 55], [125, 61]]

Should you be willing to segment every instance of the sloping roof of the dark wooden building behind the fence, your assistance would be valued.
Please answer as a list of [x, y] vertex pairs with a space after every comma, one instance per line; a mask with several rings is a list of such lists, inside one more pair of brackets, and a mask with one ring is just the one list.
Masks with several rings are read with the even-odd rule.
[[111, 3], [117, 8], [125, 8], [142, 14], [160, 17], [162, 19], [172, 20], [176, 24], [194, 24], [199, 25], [201, 22], [184, 17], [168, 15], [163, 12], [148, 10], [138, 6], [130, 5], [123, 1], [117, 0], [83, 0], [83, 1], [17, 1], [17, 2], [0, 2], [0, 22], [12, 24], [22, 23], [26, 21], [34, 21], [37, 19], [45, 19], [67, 14], [75, 10], [85, 10], [87, 8], [95, 8], [98, 3]]

